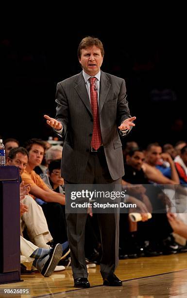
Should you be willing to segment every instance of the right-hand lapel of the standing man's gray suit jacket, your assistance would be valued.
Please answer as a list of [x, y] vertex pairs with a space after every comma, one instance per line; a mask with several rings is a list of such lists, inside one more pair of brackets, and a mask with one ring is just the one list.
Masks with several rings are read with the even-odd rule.
[[102, 107], [106, 100], [106, 96], [110, 90], [110, 81], [105, 73], [101, 71], [101, 81], [100, 81], [100, 95], [99, 95], [99, 112], [102, 112]]

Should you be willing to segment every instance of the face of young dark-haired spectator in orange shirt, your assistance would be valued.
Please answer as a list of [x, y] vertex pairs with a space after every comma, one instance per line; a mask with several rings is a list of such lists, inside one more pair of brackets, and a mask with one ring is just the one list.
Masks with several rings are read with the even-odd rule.
[[34, 144], [29, 151], [29, 164], [33, 167], [39, 166], [44, 156], [44, 148], [40, 145]]

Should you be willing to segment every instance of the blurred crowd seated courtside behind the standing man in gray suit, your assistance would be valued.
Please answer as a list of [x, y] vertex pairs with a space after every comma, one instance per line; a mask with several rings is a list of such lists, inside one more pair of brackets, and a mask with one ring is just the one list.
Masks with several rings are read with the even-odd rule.
[[[4, 140], [6, 165], [20, 173], [20, 237], [22, 273], [34, 269], [48, 277], [70, 267], [66, 194], [61, 177], [63, 147], [30, 139], [23, 147]], [[120, 213], [119, 259], [155, 257], [187, 251], [187, 143], [162, 147], [135, 141], [123, 144], [122, 189], [127, 208]], [[141, 221], [130, 216], [139, 213]], [[151, 218], [149, 217], [151, 214]], [[102, 246], [97, 214], [88, 211], [85, 228], [87, 267], [100, 263]], [[50, 264], [50, 265], [49, 265]]]

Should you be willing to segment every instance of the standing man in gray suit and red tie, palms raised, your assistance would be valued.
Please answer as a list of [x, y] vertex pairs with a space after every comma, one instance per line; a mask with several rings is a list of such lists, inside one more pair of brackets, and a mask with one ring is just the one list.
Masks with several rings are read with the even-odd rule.
[[[135, 124], [126, 100], [125, 81], [100, 70], [104, 50], [98, 38], [85, 37], [78, 47], [83, 71], [57, 84], [56, 117], [44, 115], [63, 138], [61, 174], [69, 184], [121, 184], [124, 175], [121, 136]], [[70, 200], [67, 198], [66, 200]], [[68, 241], [75, 287], [90, 287], [84, 252], [87, 214], [68, 213]], [[102, 239], [103, 284], [120, 286], [119, 213], [98, 214]]]

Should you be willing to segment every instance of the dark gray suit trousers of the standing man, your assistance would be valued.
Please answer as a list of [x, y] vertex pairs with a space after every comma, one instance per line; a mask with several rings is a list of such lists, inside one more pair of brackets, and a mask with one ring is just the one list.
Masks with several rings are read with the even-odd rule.
[[[68, 184], [70, 183], [65, 181], [65, 188]], [[89, 153], [85, 174], [80, 184], [121, 184], [121, 179], [113, 180], [110, 176], [103, 147], [100, 147], [97, 153]], [[66, 200], [70, 200], [67, 195]], [[66, 214], [74, 279], [88, 276], [84, 251], [87, 216], [86, 213]], [[101, 275], [102, 278], [107, 278], [114, 273], [119, 261], [119, 213], [100, 213], [98, 221], [102, 241]]]

